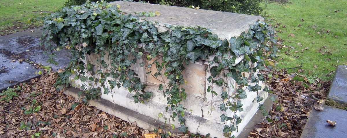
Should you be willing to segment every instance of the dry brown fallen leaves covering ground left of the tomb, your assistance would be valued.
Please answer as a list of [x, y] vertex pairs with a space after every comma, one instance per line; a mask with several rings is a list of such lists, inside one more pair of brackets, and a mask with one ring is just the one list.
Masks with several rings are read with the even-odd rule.
[[[52, 137], [144, 137], [143, 129], [120, 118], [106, 114], [82, 101], [57, 92], [53, 83], [56, 74], [50, 73], [31, 80], [18, 93], [11, 103], [1, 101], [0, 104], [0, 137], [31, 137], [40, 133], [41, 138]], [[36, 102], [33, 102], [33, 99]], [[78, 104], [74, 109], [73, 104]], [[24, 108], [41, 106], [40, 111], [24, 114]], [[23, 126], [23, 123], [26, 126]], [[22, 128], [21, 127], [22, 124]], [[24, 128], [23, 128], [24, 127]], [[148, 133], [148, 130], [147, 130]], [[124, 136], [123, 136], [124, 137]]]

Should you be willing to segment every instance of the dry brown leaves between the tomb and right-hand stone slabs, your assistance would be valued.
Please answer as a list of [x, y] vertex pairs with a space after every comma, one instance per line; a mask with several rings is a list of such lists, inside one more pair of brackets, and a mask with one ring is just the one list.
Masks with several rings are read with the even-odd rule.
[[[273, 71], [273, 76], [267, 78], [268, 85], [279, 96], [278, 103], [273, 104], [267, 119], [255, 126], [249, 137], [299, 138], [309, 111], [327, 95], [330, 82], [317, 79], [316, 82], [321, 83], [318, 87], [315, 82], [310, 84], [306, 77], [290, 75], [285, 70]], [[293, 80], [295, 76], [303, 81]]]

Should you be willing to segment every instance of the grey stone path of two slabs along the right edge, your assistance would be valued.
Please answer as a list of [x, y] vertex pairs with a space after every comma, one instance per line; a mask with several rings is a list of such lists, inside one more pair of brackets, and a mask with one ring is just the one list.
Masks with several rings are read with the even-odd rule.
[[[339, 65], [332, 80], [328, 98], [347, 103], [347, 66]], [[324, 109], [312, 109], [300, 138], [345, 138], [347, 137], [347, 111], [323, 105]], [[331, 126], [325, 120], [336, 121]]]

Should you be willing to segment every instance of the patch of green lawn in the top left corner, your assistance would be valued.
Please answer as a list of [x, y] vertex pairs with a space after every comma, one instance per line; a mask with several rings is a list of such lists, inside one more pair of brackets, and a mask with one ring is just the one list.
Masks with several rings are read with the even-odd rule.
[[0, 35], [40, 26], [26, 23], [34, 18], [61, 9], [66, 0], [0, 0]]

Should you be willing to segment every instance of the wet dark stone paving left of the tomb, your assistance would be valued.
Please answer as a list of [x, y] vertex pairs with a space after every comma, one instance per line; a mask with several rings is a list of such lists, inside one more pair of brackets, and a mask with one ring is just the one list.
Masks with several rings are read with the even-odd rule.
[[[0, 37], [0, 91], [13, 87], [18, 82], [39, 77], [35, 72], [41, 69], [33, 63], [49, 65], [53, 70], [68, 65], [70, 55], [65, 50], [56, 52], [58, 58], [55, 60], [59, 65], [46, 62], [48, 55], [44, 55], [45, 50], [39, 45], [41, 32], [41, 28], [35, 28]], [[19, 59], [23, 61], [20, 62]]]

